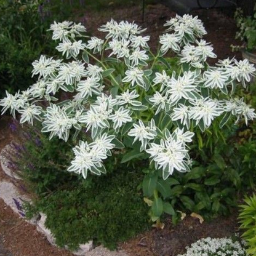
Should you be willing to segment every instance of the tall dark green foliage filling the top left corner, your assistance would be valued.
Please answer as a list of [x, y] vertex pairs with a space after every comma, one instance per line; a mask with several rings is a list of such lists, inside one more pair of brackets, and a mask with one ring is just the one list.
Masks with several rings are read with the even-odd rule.
[[15, 92], [34, 82], [31, 62], [46, 52], [52, 54], [52, 43], [46, 34], [49, 23], [38, 12], [39, 1], [3, 0], [0, 2], [0, 84]]

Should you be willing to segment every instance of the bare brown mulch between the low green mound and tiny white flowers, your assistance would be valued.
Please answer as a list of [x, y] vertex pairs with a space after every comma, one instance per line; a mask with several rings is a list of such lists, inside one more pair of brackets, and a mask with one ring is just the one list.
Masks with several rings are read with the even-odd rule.
[[176, 256], [184, 254], [185, 247], [190, 246], [198, 239], [208, 236], [212, 238], [234, 236], [238, 231], [236, 217], [237, 215], [234, 213], [230, 217], [218, 217], [211, 222], [202, 224], [197, 218], [186, 217], [176, 226], [172, 225], [168, 219], [163, 230], [151, 230], [126, 242], [122, 247], [131, 255]]

